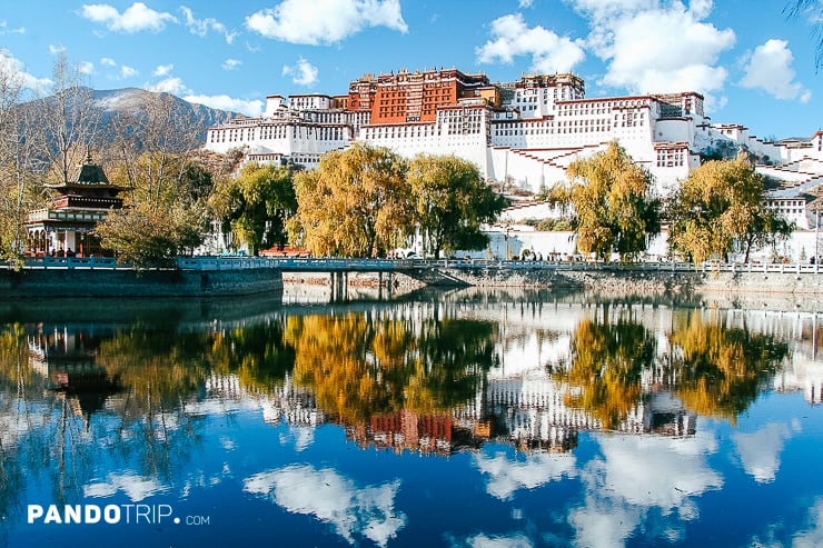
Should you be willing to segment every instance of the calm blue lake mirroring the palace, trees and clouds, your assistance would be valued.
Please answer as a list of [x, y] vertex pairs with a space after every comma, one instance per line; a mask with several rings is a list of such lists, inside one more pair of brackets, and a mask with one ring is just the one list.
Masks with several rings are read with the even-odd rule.
[[820, 546], [777, 302], [0, 303], [0, 546]]

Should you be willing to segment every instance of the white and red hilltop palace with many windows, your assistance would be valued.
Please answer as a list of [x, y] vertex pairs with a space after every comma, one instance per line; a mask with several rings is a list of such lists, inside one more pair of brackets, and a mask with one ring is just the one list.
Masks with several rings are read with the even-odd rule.
[[[262, 116], [210, 128], [206, 149], [241, 149], [249, 161], [291, 161], [308, 169], [323, 153], [355, 141], [406, 157], [454, 153], [477, 165], [488, 181], [536, 193], [564, 180], [575, 159], [617, 140], [665, 195], [702, 155], [733, 155], [743, 147], [758, 171], [779, 182], [770, 191], [772, 207], [799, 230], [814, 229], [806, 205], [823, 183], [823, 130], [807, 139], [766, 141], [741, 124], [712, 123], [703, 103], [693, 91], [586, 99], [585, 84], [574, 74], [492, 82], [456, 69], [404, 69], [365, 74], [341, 96], [269, 96]], [[513, 208], [506, 212], [507, 230], [545, 213], [539, 206]]]

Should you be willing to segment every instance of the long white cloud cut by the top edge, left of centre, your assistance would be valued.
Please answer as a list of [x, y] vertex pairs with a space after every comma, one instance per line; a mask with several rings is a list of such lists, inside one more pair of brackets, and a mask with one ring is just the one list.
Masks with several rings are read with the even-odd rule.
[[246, 27], [291, 43], [336, 43], [369, 27], [407, 32], [399, 0], [284, 0], [246, 18]]

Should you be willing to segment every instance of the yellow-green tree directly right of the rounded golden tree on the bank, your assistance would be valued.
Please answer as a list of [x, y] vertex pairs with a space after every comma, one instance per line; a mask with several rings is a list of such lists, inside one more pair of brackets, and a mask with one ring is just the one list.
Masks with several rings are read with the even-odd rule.
[[418, 155], [409, 163], [408, 182], [424, 252], [483, 249], [488, 238], [480, 225], [493, 222], [505, 207], [477, 167], [455, 156]]

